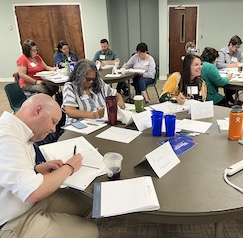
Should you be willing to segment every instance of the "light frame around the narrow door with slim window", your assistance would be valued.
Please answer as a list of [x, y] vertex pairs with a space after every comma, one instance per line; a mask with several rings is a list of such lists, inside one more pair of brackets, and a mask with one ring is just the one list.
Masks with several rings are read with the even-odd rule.
[[[198, 49], [198, 28], [199, 28], [199, 4], [191, 4], [191, 5], [168, 5], [167, 7], [167, 74], [169, 74], [169, 70], [170, 70], [170, 66], [169, 66], [169, 62], [170, 62], [170, 50], [169, 50], [169, 47], [170, 47], [170, 44], [169, 44], [169, 37], [170, 37], [170, 32], [169, 32], [169, 25], [170, 25], [170, 22], [169, 22], [169, 19], [170, 19], [170, 16], [169, 16], [169, 11], [170, 11], [170, 7], [196, 7], [197, 8], [197, 23], [196, 23], [196, 48]], [[201, 49], [200, 49], [200, 54], [201, 54]]]

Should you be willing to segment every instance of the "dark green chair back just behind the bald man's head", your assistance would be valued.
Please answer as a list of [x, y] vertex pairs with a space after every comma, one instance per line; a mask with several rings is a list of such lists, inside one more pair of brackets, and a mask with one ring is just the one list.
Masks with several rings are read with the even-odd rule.
[[8, 97], [10, 107], [14, 112], [17, 112], [22, 103], [27, 99], [23, 90], [18, 83], [10, 83], [4, 86], [5, 93]]

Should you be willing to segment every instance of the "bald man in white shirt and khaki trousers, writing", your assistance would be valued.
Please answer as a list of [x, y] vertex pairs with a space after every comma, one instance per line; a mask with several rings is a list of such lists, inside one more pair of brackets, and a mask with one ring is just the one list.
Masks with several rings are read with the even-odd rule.
[[98, 237], [96, 225], [83, 218], [91, 204], [59, 188], [80, 169], [81, 155], [35, 165], [33, 143], [55, 132], [60, 118], [58, 103], [46, 94], [0, 117], [0, 237]]

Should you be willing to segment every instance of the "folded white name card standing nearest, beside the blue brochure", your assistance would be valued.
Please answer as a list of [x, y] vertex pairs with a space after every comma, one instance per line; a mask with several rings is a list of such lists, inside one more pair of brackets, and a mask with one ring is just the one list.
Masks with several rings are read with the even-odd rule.
[[178, 163], [180, 163], [180, 160], [172, 149], [170, 142], [165, 142], [163, 145], [145, 155], [139, 164], [145, 160], [149, 162], [150, 166], [159, 178], [164, 176]]

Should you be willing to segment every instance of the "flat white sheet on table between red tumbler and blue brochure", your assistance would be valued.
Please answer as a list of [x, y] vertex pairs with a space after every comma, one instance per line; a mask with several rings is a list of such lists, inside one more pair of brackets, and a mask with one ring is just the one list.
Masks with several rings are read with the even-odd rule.
[[101, 132], [96, 137], [102, 138], [106, 140], [112, 140], [122, 143], [130, 143], [132, 140], [134, 140], [136, 137], [138, 137], [142, 132], [130, 130], [130, 129], [124, 129], [119, 127], [110, 127], [107, 130]]

